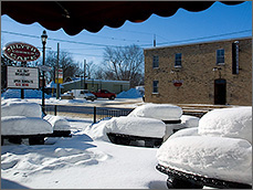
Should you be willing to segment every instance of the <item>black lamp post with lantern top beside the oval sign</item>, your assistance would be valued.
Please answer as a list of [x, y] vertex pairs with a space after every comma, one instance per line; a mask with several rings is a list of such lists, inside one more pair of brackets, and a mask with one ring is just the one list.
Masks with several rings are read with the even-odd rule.
[[[42, 41], [42, 45], [43, 45], [43, 49], [42, 49], [42, 53], [43, 53], [43, 66], [45, 65], [45, 43], [46, 43], [46, 40], [48, 40], [48, 35], [46, 35], [46, 32], [45, 30], [43, 31], [42, 35], [41, 35], [41, 41]], [[42, 70], [42, 113], [44, 114], [45, 113], [45, 96], [44, 96], [44, 85], [45, 85], [45, 75], [44, 75], [44, 71]]]

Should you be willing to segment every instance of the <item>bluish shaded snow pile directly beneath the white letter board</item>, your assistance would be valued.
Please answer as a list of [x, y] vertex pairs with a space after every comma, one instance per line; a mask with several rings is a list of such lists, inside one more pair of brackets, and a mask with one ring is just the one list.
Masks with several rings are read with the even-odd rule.
[[[1, 97], [7, 98], [21, 98], [21, 89], [7, 89], [1, 94]], [[50, 98], [48, 94], [44, 93], [45, 98]], [[24, 98], [42, 98], [42, 91], [38, 89], [24, 89]]]

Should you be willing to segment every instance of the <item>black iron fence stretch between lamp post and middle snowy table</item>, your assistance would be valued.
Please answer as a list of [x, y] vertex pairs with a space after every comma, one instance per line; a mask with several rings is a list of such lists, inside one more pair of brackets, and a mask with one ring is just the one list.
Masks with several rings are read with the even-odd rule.
[[45, 105], [45, 114], [59, 115], [61, 113], [81, 114], [85, 117], [93, 118], [96, 123], [106, 117], [127, 116], [133, 108], [108, 108], [108, 107], [86, 107], [86, 106], [68, 106], [68, 105]]

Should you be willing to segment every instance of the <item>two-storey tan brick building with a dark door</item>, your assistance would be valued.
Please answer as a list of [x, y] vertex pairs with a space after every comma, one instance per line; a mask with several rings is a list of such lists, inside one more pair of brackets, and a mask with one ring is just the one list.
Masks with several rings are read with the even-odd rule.
[[252, 38], [144, 53], [146, 102], [252, 105]]

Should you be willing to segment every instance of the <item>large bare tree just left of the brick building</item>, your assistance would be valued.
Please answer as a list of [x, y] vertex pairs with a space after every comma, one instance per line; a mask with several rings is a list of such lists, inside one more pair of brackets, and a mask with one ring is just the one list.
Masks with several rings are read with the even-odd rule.
[[[105, 80], [130, 81], [130, 87], [144, 78], [144, 52], [137, 45], [105, 48], [103, 76]], [[141, 77], [143, 76], [143, 77]]]

